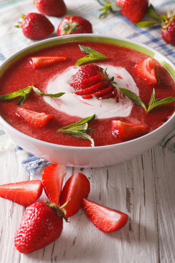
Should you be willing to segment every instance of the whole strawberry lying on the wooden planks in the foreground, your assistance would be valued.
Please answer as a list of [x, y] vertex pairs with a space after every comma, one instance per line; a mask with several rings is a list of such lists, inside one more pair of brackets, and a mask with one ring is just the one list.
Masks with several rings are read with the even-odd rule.
[[38, 202], [27, 207], [15, 234], [16, 249], [28, 254], [59, 238], [63, 217], [64, 212], [54, 203]]

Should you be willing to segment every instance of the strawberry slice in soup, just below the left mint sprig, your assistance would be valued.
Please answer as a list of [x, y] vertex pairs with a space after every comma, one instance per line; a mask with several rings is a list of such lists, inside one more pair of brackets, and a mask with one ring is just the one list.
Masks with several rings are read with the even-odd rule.
[[35, 126], [35, 127], [45, 127], [53, 116], [46, 113], [39, 113], [32, 110], [27, 110], [24, 108], [17, 107], [16, 115], [22, 118], [25, 122]]

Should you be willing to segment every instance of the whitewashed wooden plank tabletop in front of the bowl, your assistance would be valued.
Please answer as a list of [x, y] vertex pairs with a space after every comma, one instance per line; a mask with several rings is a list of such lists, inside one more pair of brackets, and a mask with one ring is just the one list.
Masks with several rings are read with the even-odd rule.
[[[133, 160], [101, 168], [67, 167], [66, 180], [74, 171], [90, 180], [89, 199], [129, 215], [124, 228], [114, 233], [99, 231], [81, 209], [64, 222], [62, 235], [46, 248], [20, 254], [13, 239], [24, 208], [0, 201], [0, 262], [174, 262], [174, 153], [155, 146]], [[41, 179], [28, 175], [21, 161], [25, 151], [0, 154], [0, 184]], [[40, 200], [47, 200], [43, 193]]]

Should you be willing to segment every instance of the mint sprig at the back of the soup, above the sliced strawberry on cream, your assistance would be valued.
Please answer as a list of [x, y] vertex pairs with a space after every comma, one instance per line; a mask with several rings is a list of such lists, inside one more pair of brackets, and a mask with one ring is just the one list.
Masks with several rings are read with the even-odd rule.
[[81, 46], [78, 45], [80, 50], [83, 53], [88, 54], [88, 56], [85, 56], [83, 58], [80, 58], [77, 62], [76, 62], [76, 66], [80, 66], [80, 65], [84, 65], [84, 64], [88, 64], [91, 62], [94, 62], [96, 60], [101, 60], [101, 59], [107, 59], [107, 57], [101, 53], [99, 53], [98, 51], [88, 47], [88, 46]]

